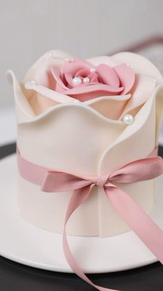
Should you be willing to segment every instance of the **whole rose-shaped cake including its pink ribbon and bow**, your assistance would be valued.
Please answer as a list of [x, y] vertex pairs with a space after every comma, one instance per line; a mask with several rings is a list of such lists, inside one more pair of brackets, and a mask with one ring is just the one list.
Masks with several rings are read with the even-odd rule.
[[81, 60], [50, 51], [22, 83], [12, 71], [8, 78], [17, 116], [19, 215], [64, 233], [66, 259], [88, 283], [72, 263], [66, 233], [104, 238], [133, 228], [163, 261], [163, 233], [148, 216], [155, 177], [163, 173], [158, 69], [135, 53]]

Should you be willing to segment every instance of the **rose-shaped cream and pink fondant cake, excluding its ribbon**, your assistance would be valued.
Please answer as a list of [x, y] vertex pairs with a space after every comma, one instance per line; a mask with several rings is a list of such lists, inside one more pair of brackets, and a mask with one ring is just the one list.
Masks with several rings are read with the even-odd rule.
[[[163, 108], [162, 76], [134, 53], [71, 59], [52, 51], [42, 56], [23, 83], [12, 77], [17, 115], [17, 147], [36, 165], [80, 176], [100, 176], [146, 158], [157, 147]], [[121, 186], [149, 213], [155, 181]], [[95, 187], [68, 222], [67, 233], [110, 236], [129, 226]], [[18, 173], [18, 204], [23, 219], [63, 232], [72, 191], [43, 192]]]

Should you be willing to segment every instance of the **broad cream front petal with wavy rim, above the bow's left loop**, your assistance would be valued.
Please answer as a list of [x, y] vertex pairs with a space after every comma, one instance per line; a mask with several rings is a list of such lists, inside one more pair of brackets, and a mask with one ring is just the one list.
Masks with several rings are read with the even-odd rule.
[[18, 146], [32, 163], [93, 176], [102, 153], [125, 127], [123, 122], [108, 122], [88, 106], [61, 105], [18, 124]]

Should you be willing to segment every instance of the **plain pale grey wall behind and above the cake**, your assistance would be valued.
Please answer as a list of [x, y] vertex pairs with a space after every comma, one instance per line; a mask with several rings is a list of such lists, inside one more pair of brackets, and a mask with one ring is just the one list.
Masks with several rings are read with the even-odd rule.
[[0, 0], [0, 106], [13, 102], [6, 69], [19, 78], [42, 53], [90, 57], [163, 34], [162, 0]]

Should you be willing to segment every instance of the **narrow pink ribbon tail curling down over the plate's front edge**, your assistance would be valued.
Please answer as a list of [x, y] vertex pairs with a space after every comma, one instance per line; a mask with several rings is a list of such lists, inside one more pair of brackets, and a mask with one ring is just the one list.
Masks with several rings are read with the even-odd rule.
[[[70, 202], [68, 203], [68, 208], [66, 212], [66, 219], [65, 219], [65, 224], [64, 224], [64, 232], [63, 232], [63, 249], [64, 249], [64, 255], [66, 257], [66, 260], [68, 262], [68, 265], [70, 265], [71, 269], [79, 276], [82, 278], [84, 281], [86, 281], [88, 284], [92, 285], [94, 288], [96, 288], [99, 291], [113, 291], [113, 289], [108, 289], [101, 287], [99, 285], [95, 285], [90, 279], [84, 274], [82, 269], [79, 267], [77, 264], [75, 258], [73, 257], [73, 254], [70, 251], [70, 247], [68, 245], [68, 240], [66, 237], [66, 224], [68, 222], [68, 219], [70, 216], [74, 213], [74, 211], [77, 209], [79, 205], [84, 203], [84, 201], [88, 198], [90, 191], [94, 187], [94, 184], [88, 185], [84, 188], [75, 190], [70, 198]], [[119, 290], [114, 290], [114, 291], [119, 291]]]

